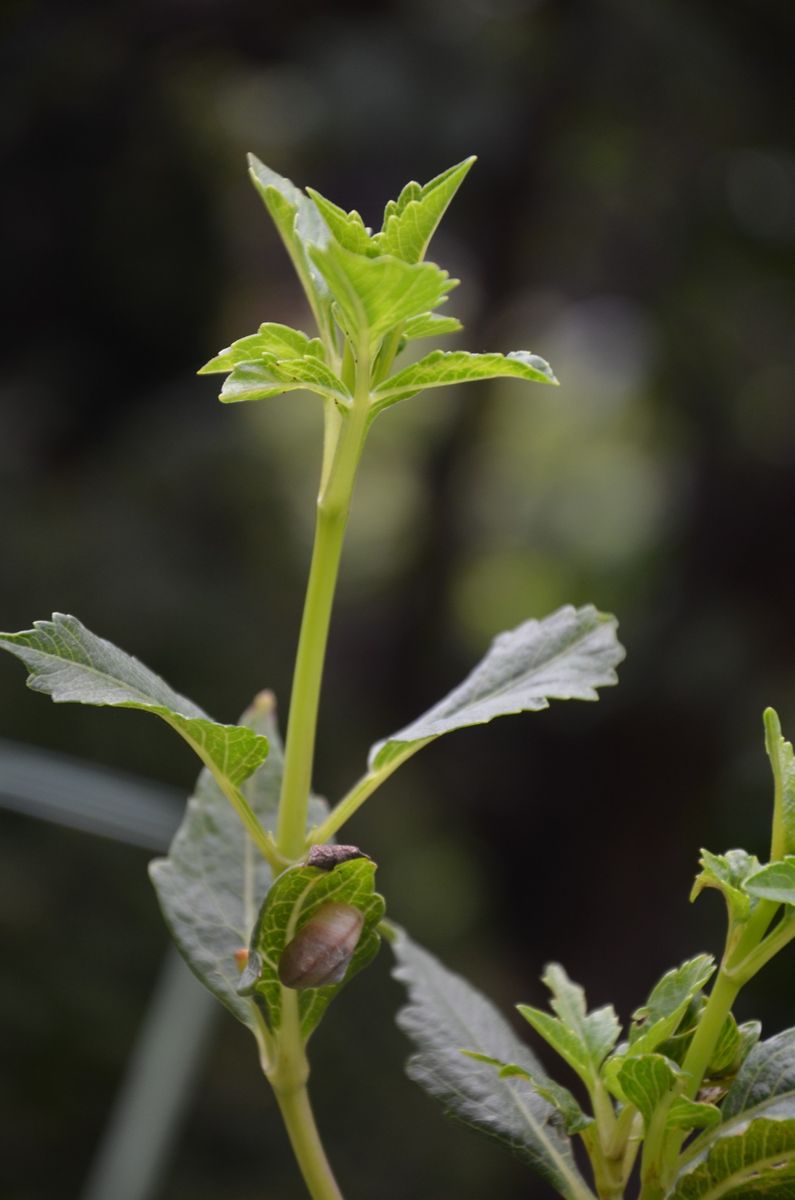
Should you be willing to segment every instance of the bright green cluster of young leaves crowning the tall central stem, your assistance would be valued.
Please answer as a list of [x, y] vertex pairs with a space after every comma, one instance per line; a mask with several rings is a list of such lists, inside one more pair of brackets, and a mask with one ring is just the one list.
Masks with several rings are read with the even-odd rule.
[[220, 398], [234, 403], [301, 389], [346, 413], [353, 404], [352, 364], [365, 359], [370, 419], [428, 388], [497, 377], [556, 383], [549, 364], [528, 350], [432, 350], [388, 376], [410, 342], [461, 329], [455, 317], [436, 312], [459, 281], [424, 258], [473, 162], [466, 158], [424, 186], [407, 184], [387, 204], [382, 228], [372, 233], [358, 212], [346, 212], [315, 188], [301, 192], [250, 156], [251, 179], [292, 259], [321, 336], [269, 322], [233, 342], [199, 372], [227, 374]]

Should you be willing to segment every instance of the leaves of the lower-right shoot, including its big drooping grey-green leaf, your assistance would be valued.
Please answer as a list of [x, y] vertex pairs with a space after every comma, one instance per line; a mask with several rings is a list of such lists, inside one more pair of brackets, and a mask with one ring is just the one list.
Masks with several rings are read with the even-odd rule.
[[[765, 726], [775, 779], [773, 847], [781, 857], [760, 866], [745, 851], [705, 853], [694, 888], [694, 894], [719, 888], [727, 900], [729, 935], [721, 971], [731, 970], [733, 948], [745, 944], [748, 922], [764, 918], [758, 943], [747, 953], [748, 978], [795, 937], [795, 758], [772, 709]], [[582, 989], [563, 968], [546, 968], [552, 1012], [527, 1004], [518, 1010], [578, 1078], [590, 1100], [586, 1111], [468, 984], [405, 934], [393, 938], [393, 950], [395, 976], [410, 997], [399, 1019], [416, 1046], [410, 1075], [450, 1115], [519, 1152], [568, 1200], [594, 1195], [575, 1165], [573, 1136], [585, 1145], [599, 1196], [623, 1195], [644, 1140], [662, 1146], [667, 1138], [675, 1150], [688, 1144], [664, 1186], [641, 1188], [644, 1196], [795, 1195], [795, 1030], [759, 1043], [759, 1022], [739, 1025], [729, 1013], [703, 1075], [694, 1080], [685, 1069], [705, 1013], [705, 989], [717, 970], [711, 955], [664, 974], [634, 1013], [622, 1043], [610, 1006], [588, 1012]], [[476, 1066], [467, 1068], [467, 1060]]]

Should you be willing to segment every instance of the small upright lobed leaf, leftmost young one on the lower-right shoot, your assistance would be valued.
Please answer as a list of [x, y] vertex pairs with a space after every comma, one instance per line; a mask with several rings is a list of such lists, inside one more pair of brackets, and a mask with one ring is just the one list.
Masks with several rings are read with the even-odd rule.
[[568, 1062], [587, 1086], [593, 1086], [599, 1068], [618, 1040], [621, 1026], [612, 1006], [588, 1013], [585, 992], [572, 983], [557, 962], [551, 962], [543, 977], [550, 989], [551, 1007], [557, 1016], [530, 1004], [518, 1004], [521, 1015]]

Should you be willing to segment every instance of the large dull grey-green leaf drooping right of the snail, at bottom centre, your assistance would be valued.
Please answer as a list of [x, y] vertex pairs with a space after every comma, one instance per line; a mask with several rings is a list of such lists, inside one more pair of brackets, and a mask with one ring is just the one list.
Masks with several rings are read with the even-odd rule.
[[411, 1079], [441, 1100], [449, 1116], [509, 1146], [568, 1200], [592, 1200], [556, 1109], [519, 1074], [503, 1075], [462, 1050], [544, 1072], [494, 1006], [460, 976], [398, 930], [390, 938], [394, 976], [408, 991], [398, 1024], [414, 1045]]

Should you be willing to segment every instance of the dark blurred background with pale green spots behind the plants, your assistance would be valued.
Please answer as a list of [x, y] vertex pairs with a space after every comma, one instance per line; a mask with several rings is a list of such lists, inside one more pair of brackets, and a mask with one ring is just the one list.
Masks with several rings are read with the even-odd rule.
[[[766, 851], [761, 710], [795, 728], [793, 10], [775, 0], [138, 0], [2, 7], [0, 626], [79, 616], [222, 720], [287, 706], [321, 416], [222, 408], [196, 368], [309, 316], [244, 155], [365, 221], [479, 162], [431, 257], [450, 344], [512, 382], [375, 427], [335, 613], [316, 786], [564, 602], [621, 618], [621, 686], [450, 736], [346, 830], [395, 919], [503, 1008], [561, 959], [627, 1018], [718, 949], [698, 850]], [[0, 664], [2, 736], [178, 787], [133, 713]], [[78, 1196], [167, 940], [147, 854], [0, 814], [7, 1200]], [[402, 1075], [389, 954], [313, 1043], [349, 1200], [543, 1198]], [[791, 1024], [793, 959], [743, 998]], [[530, 1031], [527, 1031], [530, 1032]], [[299, 1200], [253, 1046], [219, 1020], [162, 1200]], [[113, 1200], [113, 1198], [108, 1198]]]

